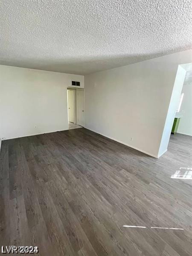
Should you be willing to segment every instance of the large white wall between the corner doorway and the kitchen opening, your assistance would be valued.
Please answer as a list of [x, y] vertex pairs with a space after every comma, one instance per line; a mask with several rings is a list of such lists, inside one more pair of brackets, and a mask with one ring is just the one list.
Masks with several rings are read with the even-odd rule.
[[177, 68], [188, 62], [192, 51], [85, 76], [85, 127], [158, 157]]

